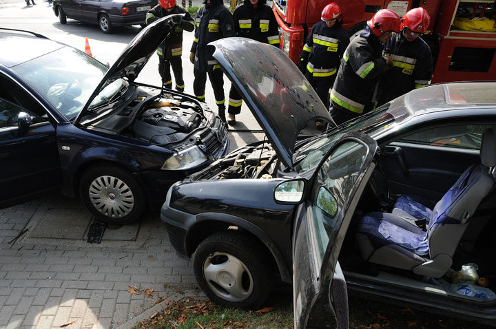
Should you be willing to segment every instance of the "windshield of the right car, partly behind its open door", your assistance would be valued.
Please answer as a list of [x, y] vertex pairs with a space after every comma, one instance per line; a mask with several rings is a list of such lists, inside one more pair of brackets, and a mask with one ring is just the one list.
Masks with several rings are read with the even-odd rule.
[[394, 128], [400, 121], [409, 118], [410, 113], [404, 107], [402, 98], [393, 103], [387, 103], [378, 107], [373, 112], [359, 116], [354, 120], [344, 123], [332, 129], [329, 134], [305, 140], [298, 147], [295, 154], [296, 171], [307, 171], [316, 167], [322, 160], [322, 156], [341, 138], [351, 131], [362, 131], [371, 137], [382, 134], [384, 131]]

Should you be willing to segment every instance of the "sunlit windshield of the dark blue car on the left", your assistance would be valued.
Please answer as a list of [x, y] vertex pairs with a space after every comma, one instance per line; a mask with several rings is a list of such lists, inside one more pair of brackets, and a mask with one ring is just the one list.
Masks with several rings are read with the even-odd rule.
[[12, 67], [12, 70], [70, 120], [81, 112], [105, 76], [107, 67], [79, 50], [62, 47]]

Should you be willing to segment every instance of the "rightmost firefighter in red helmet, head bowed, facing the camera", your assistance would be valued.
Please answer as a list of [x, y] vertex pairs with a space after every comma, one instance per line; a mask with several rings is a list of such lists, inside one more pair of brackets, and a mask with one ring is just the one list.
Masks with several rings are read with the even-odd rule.
[[384, 45], [384, 53], [391, 55], [393, 67], [381, 78], [380, 104], [431, 82], [431, 48], [419, 38], [429, 23], [431, 17], [424, 8], [412, 9], [401, 19], [400, 33], [395, 33]]

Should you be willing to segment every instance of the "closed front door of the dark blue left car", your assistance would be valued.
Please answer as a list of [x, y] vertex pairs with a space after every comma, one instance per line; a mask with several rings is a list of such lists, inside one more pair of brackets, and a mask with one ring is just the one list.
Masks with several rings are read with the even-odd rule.
[[[29, 127], [19, 117], [29, 115]], [[45, 109], [10, 78], [0, 74], [0, 206], [59, 187], [56, 131]]]

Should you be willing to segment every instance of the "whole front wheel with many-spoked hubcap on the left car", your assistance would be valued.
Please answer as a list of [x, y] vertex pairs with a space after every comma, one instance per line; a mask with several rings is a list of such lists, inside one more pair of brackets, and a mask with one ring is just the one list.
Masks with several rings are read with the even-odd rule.
[[130, 224], [145, 212], [145, 193], [138, 182], [112, 165], [85, 171], [79, 195], [93, 215], [107, 224]]

